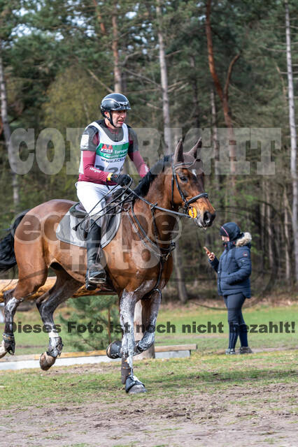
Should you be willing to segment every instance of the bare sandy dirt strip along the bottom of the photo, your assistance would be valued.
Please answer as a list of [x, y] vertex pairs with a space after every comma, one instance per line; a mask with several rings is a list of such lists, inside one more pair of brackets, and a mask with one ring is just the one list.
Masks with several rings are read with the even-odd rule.
[[189, 393], [172, 397], [6, 409], [0, 446], [297, 446], [296, 402], [288, 383], [221, 393], [199, 393], [190, 384]]

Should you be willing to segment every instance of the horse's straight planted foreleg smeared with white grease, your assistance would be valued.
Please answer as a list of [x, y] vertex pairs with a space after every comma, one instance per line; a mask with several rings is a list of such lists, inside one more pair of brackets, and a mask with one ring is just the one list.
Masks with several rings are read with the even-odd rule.
[[127, 393], [146, 393], [146, 388], [134, 375], [133, 358], [136, 355], [136, 344], [134, 342], [134, 308], [136, 306], [136, 295], [134, 292], [123, 291], [120, 299], [120, 324], [123, 330], [120, 354], [127, 359], [129, 374], [125, 381]]

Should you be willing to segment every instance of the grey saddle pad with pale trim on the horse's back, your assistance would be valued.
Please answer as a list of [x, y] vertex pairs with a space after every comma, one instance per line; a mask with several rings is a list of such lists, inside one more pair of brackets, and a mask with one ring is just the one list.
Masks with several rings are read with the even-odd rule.
[[[68, 244], [78, 245], [78, 247], [86, 248], [86, 236], [87, 236], [87, 221], [82, 225], [83, 217], [73, 216], [70, 210], [62, 217], [59, 225], [57, 226], [56, 236], [57, 239], [62, 242], [67, 242]], [[118, 231], [121, 221], [121, 213], [117, 214], [106, 214], [106, 216], [101, 218], [104, 220], [101, 226], [101, 247], [106, 247], [109, 242], [113, 239]], [[76, 229], [77, 228], [77, 229]]]

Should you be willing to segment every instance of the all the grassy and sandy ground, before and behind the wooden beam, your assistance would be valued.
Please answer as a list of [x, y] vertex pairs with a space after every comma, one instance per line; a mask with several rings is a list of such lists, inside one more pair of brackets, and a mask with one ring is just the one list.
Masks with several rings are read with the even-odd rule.
[[[117, 363], [57, 367], [57, 360], [48, 372], [0, 372], [0, 447], [296, 446], [298, 306], [244, 309], [255, 331], [250, 346], [274, 351], [225, 356], [227, 312], [197, 304], [162, 305], [157, 344], [199, 349], [190, 358], [136, 361], [145, 395], [125, 393]], [[19, 312], [15, 322], [41, 324], [37, 311]], [[208, 322], [211, 331], [199, 333]], [[166, 325], [170, 332], [160, 333]], [[73, 351], [65, 332], [64, 351]], [[16, 354], [48, 346], [43, 332], [15, 337]]]

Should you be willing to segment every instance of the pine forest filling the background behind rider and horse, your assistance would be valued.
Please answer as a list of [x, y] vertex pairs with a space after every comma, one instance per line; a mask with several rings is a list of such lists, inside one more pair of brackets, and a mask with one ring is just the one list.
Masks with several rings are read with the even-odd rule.
[[[297, 158], [289, 94], [295, 112], [297, 30], [293, 0], [0, 0], [1, 228], [17, 212], [46, 200], [77, 200], [80, 134], [101, 118], [101, 98], [121, 91], [132, 105], [129, 124], [139, 135], [152, 129], [150, 144], [140, 147], [150, 166], [173, 152], [180, 136], [211, 129], [214, 156], [205, 189], [217, 217], [206, 232], [190, 219], [183, 222], [171, 297], [178, 290], [185, 301], [204, 294], [208, 285], [215, 293], [214, 272], [202, 247], [219, 255], [219, 226], [229, 220], [253, 235], [254, 293], [276, 286], [293, 290], [298, 281]], [[47, 171], [35, 149], [48, 128], [63, 138], [43, 153]], [[225, 173], [216, 168], [223, 128], [234, 136], [240, 128], [261, 129], [261, 134], [263, 128], [281, 129], [281, 145], [271, 145], [271, 159], [261, 159], [260, 144], [248, 141], [249, 172], [232, 168]], [[34, 129], [34, 134], [29, 145], [10, 153], [16, 129]], [[75, 129], [71, 141], [66, 129]], [[228, 150], [233, 166], [236, 154]], [[15, 173], [16, 156], [32, 161], [27, 173]], [[257, 168], [261, 161], [268, 168], [264, 172]], [[137, 184], [132, 163], [127, 170]]]

